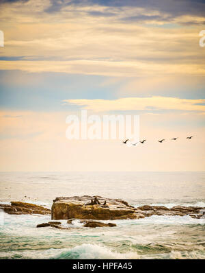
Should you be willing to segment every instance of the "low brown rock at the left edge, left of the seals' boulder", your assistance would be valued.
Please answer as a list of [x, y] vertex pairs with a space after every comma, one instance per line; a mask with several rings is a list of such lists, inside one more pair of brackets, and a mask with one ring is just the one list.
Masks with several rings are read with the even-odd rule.
[[8, 214], [51, 214], [51, 209], [46, 209], [43, 206], [30, 204], [25, 202], [11, 202], [8, 204], [0, 204], [0, 209], [3, 209]]

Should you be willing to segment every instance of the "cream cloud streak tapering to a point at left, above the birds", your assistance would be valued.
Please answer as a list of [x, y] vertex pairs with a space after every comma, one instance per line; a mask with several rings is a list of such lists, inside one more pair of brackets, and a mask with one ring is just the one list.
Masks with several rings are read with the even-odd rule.
[[205, 99], [179, 99], [177, 97], [125, 97], [122, 99], [66, 99], [68, 104], [83, 106], [95, 112], [113, 110], [186, 110], [205, 111]]

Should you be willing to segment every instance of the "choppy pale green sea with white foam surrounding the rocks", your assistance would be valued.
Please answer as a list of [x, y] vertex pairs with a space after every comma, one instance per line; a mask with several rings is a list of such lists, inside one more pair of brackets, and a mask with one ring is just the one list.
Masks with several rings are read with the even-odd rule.
[[[1, 172], [0, 201], [51, 208], [59, 196], [100, 195], [143, 204], [205, 207], [205, 172]], [[0, 215], [1, 259], [205, 259], [205, 219], [157, 216], [112, 228], [36, 228], [50, 215]], [[66, 220], [61, 221], [64, 226]], [[104, 221], [111, 222], [111, 221]]]

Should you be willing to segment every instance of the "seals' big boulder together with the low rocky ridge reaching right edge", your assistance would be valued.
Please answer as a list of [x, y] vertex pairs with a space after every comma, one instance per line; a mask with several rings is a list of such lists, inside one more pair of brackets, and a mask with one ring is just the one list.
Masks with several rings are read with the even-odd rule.
[[[96, 200], [97, 198], [97, 200]], [[105, 205], [106, 204], [106, 205]], [[203, 209], [195, 206], [139, 206], [137, 208], [120, 199], [102, 198], [100, 196], [59, 197], [53, 200], [52, 219], [139, 219], [152, 215], [190, 215], [201, 218]]]

